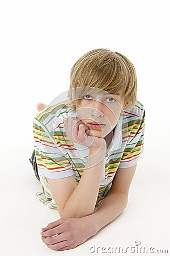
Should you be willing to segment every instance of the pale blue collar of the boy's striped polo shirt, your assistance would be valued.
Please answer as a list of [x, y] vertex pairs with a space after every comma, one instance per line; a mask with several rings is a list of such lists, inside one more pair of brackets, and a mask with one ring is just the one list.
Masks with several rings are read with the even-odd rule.
[[[76, 110], [72, 113], [69, 114], [69, 116], [71, 117], [76, 117]], [[119, 148], [121, 148], [122, 146], [122, 115], [120, 115], [120, 118], [118, 119], [117, 125], [114, 129], [114, 135], [112, 138], [111, 143], [109, 144], [107, 151], [106, 151], [106, 156], [108, 155], [108, 152], [117, 150]], [[78, 150], [79, 155], [82, 158], [87, 158], [89, 155], [89, 151], [90, 149], [86, 146], [82, 146], [79, 143], [74, 142], [74, 146], [76, 148], [76, 150]]]

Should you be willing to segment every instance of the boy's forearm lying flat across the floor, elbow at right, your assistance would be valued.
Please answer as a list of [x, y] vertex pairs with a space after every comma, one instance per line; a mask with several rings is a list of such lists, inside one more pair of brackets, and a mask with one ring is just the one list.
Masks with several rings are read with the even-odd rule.
[[126, 208], [127, 204], [128, 194], [121, 192], [113, 192], [110, 195], [108, 194], [95, 213], [83, 217], [86, 219], [87, 224], [90, 224], [92, 227], [91, 236], [117, 218]]

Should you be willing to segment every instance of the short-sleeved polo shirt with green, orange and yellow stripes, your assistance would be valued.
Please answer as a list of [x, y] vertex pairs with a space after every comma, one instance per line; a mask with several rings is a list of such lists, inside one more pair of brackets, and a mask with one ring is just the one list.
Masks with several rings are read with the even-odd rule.
[[[50, 192], [48, 179], [61, 179], [74, 175], [79, 183], [86, 166], [89, 148], [69, 141], [63, 118], [76, 117], [76, 110], [69, 108], [67, 101], [48, 106], [33, 119], [33, 138], [41, 191], [37, 199], [51, 209], [57, 205]], [[145, 109], [137, 101], [133, 109], [120, 115], [114, 128], [103, 165], [96, 205], [99, 205], [111, 189], [117, 168], [128, 168], [138, 162], [143, 152]]]

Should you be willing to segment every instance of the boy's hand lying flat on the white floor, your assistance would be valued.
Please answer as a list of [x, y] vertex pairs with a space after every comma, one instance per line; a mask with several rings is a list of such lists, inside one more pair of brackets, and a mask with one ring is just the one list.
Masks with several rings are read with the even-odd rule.
[[53, 250], [69, 250], [94, 236], [95, 229], [86, 218], [60, 218], [42, 228], [42, 241]]

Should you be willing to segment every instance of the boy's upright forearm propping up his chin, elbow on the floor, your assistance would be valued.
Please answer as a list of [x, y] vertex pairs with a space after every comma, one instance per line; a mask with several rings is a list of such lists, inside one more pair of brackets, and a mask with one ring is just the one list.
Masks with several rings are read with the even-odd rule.
[[60, 214], [62, 218], [80, 218], [94, 211], [104, 166], [104, 156], [105, 152], [100, 152], [100, 158], [103, 160], [94, 165], [96, 158], [90, 153], [83, 175]]

